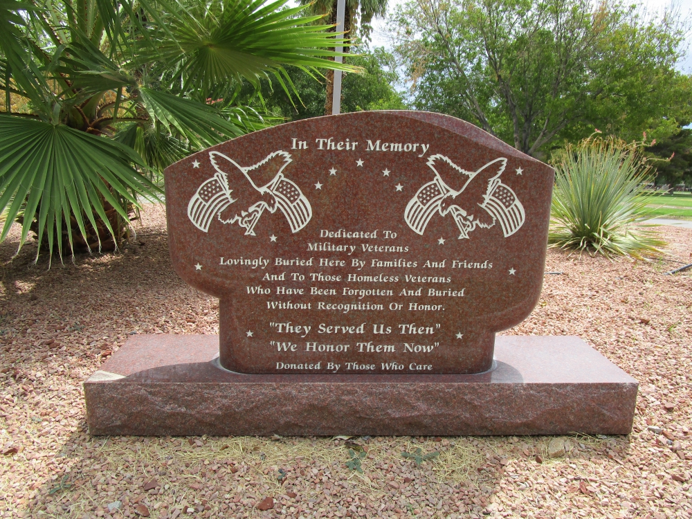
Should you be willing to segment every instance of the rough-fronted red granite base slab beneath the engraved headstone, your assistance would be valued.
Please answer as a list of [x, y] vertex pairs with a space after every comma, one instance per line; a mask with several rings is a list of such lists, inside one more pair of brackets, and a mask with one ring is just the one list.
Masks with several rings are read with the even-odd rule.
[[473, 375], [256, 375], [219, 337], [129, 339], [84, 383], [92, 435], [628, 434], [638, 383], [580, 338], [498, 336]]

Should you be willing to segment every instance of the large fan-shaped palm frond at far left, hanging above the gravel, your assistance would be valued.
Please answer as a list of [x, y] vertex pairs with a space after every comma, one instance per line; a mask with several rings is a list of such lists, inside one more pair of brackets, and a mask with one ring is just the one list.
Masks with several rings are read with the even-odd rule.
[[[127, 218], [123, 200], [138, 206], [138, 195], [156, 200], [161, 193], [133, 165], [143, 166], [132, 149], [113, 140], [65, 125], [0, 114], [0, 212], [7, 215], [0, 242], [20, 210], [24, 213], [20, 247], [33, 219], [39, 244], [46, 235], [51, 255], [57, 236], [62, 256], [62, 226], [71, 218], [76, 219], [82, 237], [86, 237], [86, 222], [97, 227], [97, 217], [113, 235], [104, 202]], [[71, 226], [65, 230], [72, 246]]]

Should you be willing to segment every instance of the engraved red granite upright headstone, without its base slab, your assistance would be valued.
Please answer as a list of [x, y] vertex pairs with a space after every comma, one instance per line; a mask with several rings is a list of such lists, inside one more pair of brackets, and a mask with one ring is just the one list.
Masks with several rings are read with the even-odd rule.
[[253, 374], [468, 374], [534, 308], [552, 169], [462, 120], [347, 113], [165, 171], [171, 257]]

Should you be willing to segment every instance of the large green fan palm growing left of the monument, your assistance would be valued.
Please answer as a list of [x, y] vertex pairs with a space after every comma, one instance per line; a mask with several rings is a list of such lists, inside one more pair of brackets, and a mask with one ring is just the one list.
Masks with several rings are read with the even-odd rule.
[[354, 70], [286, 1], [1, 1], [0, 242], [17, 220], [37, 259], [112, 250], [164, 167], [275, 122], [234, 102], [243, 84]]

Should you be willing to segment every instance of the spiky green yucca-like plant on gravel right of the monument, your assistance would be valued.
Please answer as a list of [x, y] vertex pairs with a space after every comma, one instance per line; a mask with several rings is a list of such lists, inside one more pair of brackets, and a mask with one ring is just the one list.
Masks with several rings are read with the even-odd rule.
[[665, 242], [650, 226], [644, 186], [651, 166], [637, 143], [614, 137], [567, 145], [553, 160], [548, 243], [605, 256], [657, 255]]

